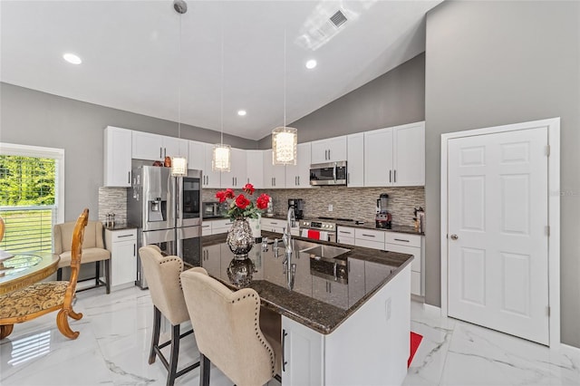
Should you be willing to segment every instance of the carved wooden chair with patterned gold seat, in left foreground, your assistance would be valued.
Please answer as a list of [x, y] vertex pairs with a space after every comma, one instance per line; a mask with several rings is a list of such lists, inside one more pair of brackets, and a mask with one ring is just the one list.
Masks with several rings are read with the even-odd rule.
[[56, 315], [56, 325], [64, 336], [76, 339], [79, 332], [69, 326], [68, 317], [82, 318], [81, 313], [73, 311], [73, 297], [82, 259], [82, 237], [89, 218], [85, 208], [76, 220], [73, 232], [71, 280], [36, 283], [8, 294], [0, 295], [0, 339], [4, 339], [14, 328], [14, 323], [33, 320], [43, 314], [60, 310]]

